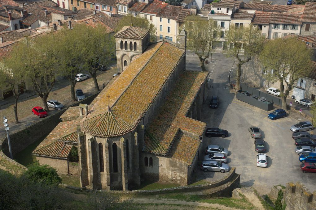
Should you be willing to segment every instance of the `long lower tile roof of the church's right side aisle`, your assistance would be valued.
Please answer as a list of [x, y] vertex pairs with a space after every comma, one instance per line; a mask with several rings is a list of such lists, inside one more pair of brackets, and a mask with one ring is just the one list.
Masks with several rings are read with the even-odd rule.
[[[158, 108], [157, 114], [146, 126], [145, 146], [143, 151], [168, 155], [174, 139], [181, 130], [202, 136], [206, 123], [186, 117], [187, 112], [201, 87], [208, 72], [190, 72], [180, 74], [166, 101]], [[191, 148], [196, 153], [196, 148]], [[189, 155], [189, 154], [187, 154]]]

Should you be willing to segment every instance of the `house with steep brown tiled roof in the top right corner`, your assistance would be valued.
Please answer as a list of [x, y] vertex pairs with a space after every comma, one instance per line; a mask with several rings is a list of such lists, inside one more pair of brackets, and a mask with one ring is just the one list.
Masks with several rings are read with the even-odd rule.
[[316, 35], [316, 3], [307, 2], [302, 18], [302, 35]]

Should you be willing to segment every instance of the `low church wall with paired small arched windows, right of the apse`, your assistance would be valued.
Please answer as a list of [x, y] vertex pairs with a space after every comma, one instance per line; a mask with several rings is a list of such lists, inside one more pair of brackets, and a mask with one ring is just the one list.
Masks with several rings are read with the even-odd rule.
[[181, 185], [188, 183], [188, 165], [170, 157], [155, 156], [143, 152], [140, 156], [140, 168], [144, 179]]

